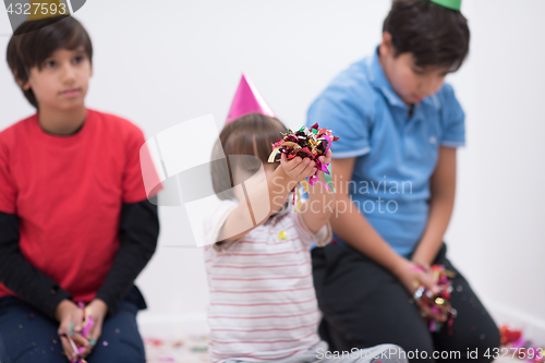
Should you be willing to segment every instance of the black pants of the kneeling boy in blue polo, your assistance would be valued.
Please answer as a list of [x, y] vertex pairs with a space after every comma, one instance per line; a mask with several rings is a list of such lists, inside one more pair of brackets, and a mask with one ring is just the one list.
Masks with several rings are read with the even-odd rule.
[[[330, 350], [393, 343], [414, 362], [492, 362], [499, 331], [468, 281], [446, 258], [444, 244], [434, 264], [456, 273], [451, 304], [458, 311], [452, 335], [447, 326], [431, 332], [411, 295], [388, 270], [348, 245], [329, 244], [312, 251], [314, 286], [324, 314], [322, 339]], [[411, 353], [419, 352], [419, 359]], [[427, 359], [423, 359], [425, 351]], [[434, 351], [437, 359], [433, 359]], [[451, 359], [440, 359], [450, 356]], [[459, 352], [459, 355], [456, 355]], [[475, 353], [476, 352], [476, 353]], [[471, 355], [468, 356], [468, 353]]]

